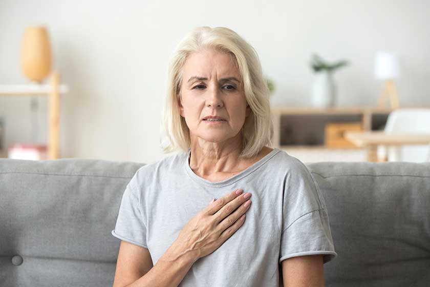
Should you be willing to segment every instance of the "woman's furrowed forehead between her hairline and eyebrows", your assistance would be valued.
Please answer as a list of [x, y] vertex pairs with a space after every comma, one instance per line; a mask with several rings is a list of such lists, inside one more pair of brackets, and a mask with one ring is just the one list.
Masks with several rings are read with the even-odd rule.
[[[219, 77], [236, 76], [240, 77], [239, 69], [228, 53], [216, 50], [203, 50], [190, 54], [183, 67], [183, 75], [186, 76], [206, 76], [213, 73]], [[188, 78], [185, 78], [185, 81]]]

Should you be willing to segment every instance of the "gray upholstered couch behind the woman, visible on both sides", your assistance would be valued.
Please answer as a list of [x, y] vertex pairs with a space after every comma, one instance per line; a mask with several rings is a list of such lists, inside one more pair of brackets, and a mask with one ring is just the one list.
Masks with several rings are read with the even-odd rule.
[[[111, 235], [143, 163], [0, 159], [0, 286], [112, 286]], [[430, 163], [306, 163], [338, 257], [326, 286], [430, 286]]]

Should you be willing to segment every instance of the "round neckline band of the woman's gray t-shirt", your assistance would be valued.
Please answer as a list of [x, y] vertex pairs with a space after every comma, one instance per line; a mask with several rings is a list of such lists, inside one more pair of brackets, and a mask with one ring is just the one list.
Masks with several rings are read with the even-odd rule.
[[277, 148], [273, 148], [273, 150], [268, 153], [267, 155], [265, 155], [263, 158], [261, 158], [259, 161], [254, 162], [251, 166], [249, 166], [248, 168], [244, 169], [243, 171], [241, 171], [238, 174], [235, 174], [227, 179], [221, 180], [221, 181], [210, 181], [207, 180], [205, 178], [202, 178], [200, 176], [198, 176], [197, 174], [195, 174], [192, 169], [189, 166], [189, 156], [191, 153], [191, 148], [188, 148], [188, 151], [185, 153], [185, 162], [184, 162], [184, 167], [185, 167], [185, 171], [188, 174], [188, 176], [196, 181], [197, 183], [199, 183], [200, 185], [203, 186], [209, 186], [209, 187], [225, 187], [228, 185], [231, 185], [232, 183], [240, 180], [241, 178], [249, 175], [250, 173], [252, 173], [254, 170], [256, 170], [257, 168], [261, 167], [262, 165], [264, 165], [264, 163], [266, 161], [268, 161], [270, 158], [272, 158], [275, 154], [277, 154], [278, 152], [280, 152], [281, 150], [277, 149]]

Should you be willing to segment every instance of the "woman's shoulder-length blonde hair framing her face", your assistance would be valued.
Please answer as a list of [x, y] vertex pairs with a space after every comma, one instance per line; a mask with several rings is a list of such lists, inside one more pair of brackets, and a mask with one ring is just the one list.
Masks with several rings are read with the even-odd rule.
[[[182, 68], [194, 52], [211, 48], [229, 53], [239, 68], [245, 98], [251, 108], [241, 129], [241, 157], [252, 158], [268, 145], [272, 147], [273, 124], [270, 114], [269, 88], [263, 76], [259, 56], [236, 32], [225, 27], [197, 27], [187, 34], [175, 49], [167, 70], [167, 95], [161, 121], [167, 144], [161, 142], [164, 153], [188, 151], [190, 134], [185, 119], [179, 113], [178, 97], [182, 83]], [[161, 141], [161, 139], [160, 139]]]

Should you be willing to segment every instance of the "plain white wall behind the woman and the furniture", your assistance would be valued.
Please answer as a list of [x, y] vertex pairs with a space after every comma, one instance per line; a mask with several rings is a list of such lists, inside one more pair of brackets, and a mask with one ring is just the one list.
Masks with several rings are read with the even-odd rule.
[[[225, 26], [260, 55], [277, 91], [272, 101], [308, 106], [316, 52], [351, 62], [335, 73], [338, 105], [376, 105], [374, 55], [396, 50], [401, 106], [430, 106], [430, 2], [360, 1], [0, 1], [0, 84], [22, 84], [26, 26], [50, 32], [54, 67], [70, 92], [61, 102], [61, 156], [153, 162], [168, 57], [196, 26]], [[273, 102], [272, 102], [273, 103]], [[40, 142], [47, 100], [39, 99]], [[30, 97], [1, 97], [6, 144], [30, 136]]]

